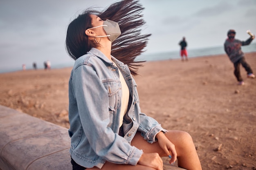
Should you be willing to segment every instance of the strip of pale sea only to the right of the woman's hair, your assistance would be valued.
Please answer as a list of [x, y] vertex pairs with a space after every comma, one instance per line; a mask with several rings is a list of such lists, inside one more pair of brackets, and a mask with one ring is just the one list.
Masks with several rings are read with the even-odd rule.
[[[202, 49], [187, 49], [188, 57], [202, 57], [211, 55], [226, 54], [224, 51], [224, 46], [216, 46]], [[244, 53], [256, 52], [256, 43], [252, 43], [248, 46], [242, 46], [242, 51]], [[256, 56], [255, 56], [256, 57]], [[154, 54], [142, 54], [137, 57], [137, 60], [146, 61], [159, 61], [159, 60], [173, 60], [180, 59], [180, 51], [170, 51], [165, 53], [154, 53]]]

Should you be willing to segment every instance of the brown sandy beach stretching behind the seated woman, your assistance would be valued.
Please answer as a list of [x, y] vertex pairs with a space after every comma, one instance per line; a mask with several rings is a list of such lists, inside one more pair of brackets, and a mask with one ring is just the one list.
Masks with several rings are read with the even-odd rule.
[[[245, 58], [256, 73], [256, 52]], [[69, 128], [72, 68], [0, 74], [0, 104]], [[256, 78], [237, 85], [227, 55], [145, 62], [135, 77], [141, 111], [193, 137], [203, 170], [256, 170]]]

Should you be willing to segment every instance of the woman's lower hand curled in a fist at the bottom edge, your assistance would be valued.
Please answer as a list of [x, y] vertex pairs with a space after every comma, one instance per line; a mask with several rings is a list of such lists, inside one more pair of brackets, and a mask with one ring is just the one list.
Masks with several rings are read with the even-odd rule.
[[138, 164], [149, 166], [156, 170], [163, 170], [163, 161], [158, 153], [143, 153], [138, 161]]

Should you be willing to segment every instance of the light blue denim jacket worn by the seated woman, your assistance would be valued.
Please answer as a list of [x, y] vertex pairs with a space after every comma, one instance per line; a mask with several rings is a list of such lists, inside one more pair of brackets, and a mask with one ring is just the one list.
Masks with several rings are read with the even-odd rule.
[[[141, 132], [149, 143], [166, 132], [157, 121], [141, 113], [135, 80], [124, 63], [112, 57], [116, 67], [101, 51], [92, 48], [74, 64], [69, 81], [69, 120], [72, 159], [85, 168], [101, 168], [106, 161], [136, 165], [142, 150], [130, 145]], [[119, 71], [130, 91], [124, 115], [124, 137], [119, 136], [121, 82]]]

